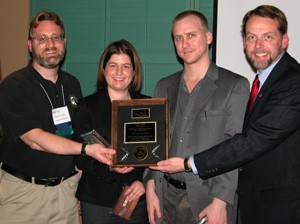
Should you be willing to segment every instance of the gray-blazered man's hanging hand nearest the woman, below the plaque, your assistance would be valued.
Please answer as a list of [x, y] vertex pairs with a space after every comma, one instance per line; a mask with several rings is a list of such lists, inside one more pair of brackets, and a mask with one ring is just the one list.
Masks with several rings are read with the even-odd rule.
[[147, 182], [146, 201], [149, 222], [150, 224], [156, 224], [155, 215], [158, 218], [161, 218], [161, 210], [159, 206], [159, 199], [155, 193], [155, 183], [152, 179]]

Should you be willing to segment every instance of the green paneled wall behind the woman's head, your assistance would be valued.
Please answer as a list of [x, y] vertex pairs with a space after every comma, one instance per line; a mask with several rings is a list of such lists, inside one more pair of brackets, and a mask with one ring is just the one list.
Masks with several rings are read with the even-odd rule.
[[95, 91], [99, 58], [112, 41], [126, 39], [142, 61], [142, 92], [152, 96], [156, 82], [182, 69], [174, 50], [171, 23], [186, 9], [197, 9], [209, 19], [211, 0], [32, 0], [31, 14], [54, 11], [62, 17], [67, 36], [63, 69], [75, 75], [83, 94]]

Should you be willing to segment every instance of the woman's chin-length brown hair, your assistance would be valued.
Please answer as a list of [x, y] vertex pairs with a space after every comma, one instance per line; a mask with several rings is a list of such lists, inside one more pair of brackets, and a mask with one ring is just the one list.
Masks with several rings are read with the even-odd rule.
[[132, 84], [129, 86], [129, 91], [139, 92], [141, 90], [142, 65], [136, 49], [131, 43], [126, 40], [118, 40], [110, 43], [102, 53], [99, 62], [98, 79], [96, 84], [98, 90], [107, 87], [107, 82], [104, 76], [104, 70], [106, 68], [107, 62], [113, 54], [121, 53], [127, 54], [129, 56], [131, 64], [133, 66], [134, 76]]

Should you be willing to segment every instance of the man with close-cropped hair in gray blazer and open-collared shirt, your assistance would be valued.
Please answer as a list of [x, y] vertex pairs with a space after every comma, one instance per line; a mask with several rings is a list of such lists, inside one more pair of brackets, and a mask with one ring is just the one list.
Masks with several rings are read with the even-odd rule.
[[[213, 37], [200, 12], [178, 14], [172, 34], [184, 69], [161, 79], [154, 96], [169, 100], [169, 156], [184, 158], [241, 132], [249, 82], [210, 60]], [[211, 223], [235, 223], [237, 170], [210, 180], [191, 172], [150, 174], [150, 223], [195, 223], [201, 211], [207, 211]]]

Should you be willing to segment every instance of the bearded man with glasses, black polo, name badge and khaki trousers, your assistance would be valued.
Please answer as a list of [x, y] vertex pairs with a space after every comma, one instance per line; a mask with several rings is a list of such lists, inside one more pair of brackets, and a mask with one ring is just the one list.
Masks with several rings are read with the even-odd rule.
[[78, 80], [60, 69], [66, 38], [61, 19], [40, 12], [31, 21], [29, 65], [0, 85], [0, 223], [79, 223], [73, 155], [110, 165], [114, 150], [71, 139]]

